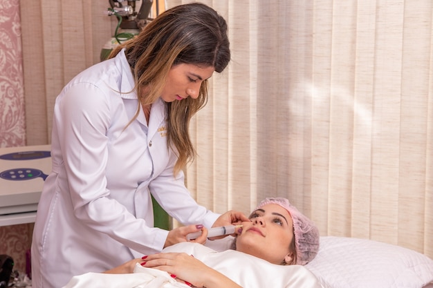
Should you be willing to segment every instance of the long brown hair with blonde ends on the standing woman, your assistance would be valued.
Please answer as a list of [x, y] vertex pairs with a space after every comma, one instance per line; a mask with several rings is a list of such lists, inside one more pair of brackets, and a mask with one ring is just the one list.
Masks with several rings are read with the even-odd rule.
[[[169, 70], [178, 64], [214, 67], [221, 73], [230, 61], [227, 23], [212, 8], [202, 3], [176, 6], [151, 21], [140, 34], [116, 47], [122, 48], [136, 79], [139, 102], [150, 105], [160, 97]], [[146, 88], [146, 89], [142, 89]], [[189, 133], [190, 119], [208, 102], [208, 81], [201, 84], [199, 97], [166, 103], [167, 144], [178, 155], [174, 173], [194, 161], [196, 151]], [[140, 111], [131, 121], [136, 119]]]

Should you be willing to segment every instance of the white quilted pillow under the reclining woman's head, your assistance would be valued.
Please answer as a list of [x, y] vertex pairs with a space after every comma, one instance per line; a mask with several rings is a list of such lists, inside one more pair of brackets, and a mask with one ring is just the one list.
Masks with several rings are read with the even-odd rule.
[[325, 288], [422, 288], [433, 282], [427, 256], [358, 238], [320, 237], [319, 253], [306, 268]]

